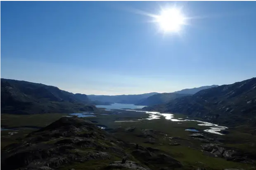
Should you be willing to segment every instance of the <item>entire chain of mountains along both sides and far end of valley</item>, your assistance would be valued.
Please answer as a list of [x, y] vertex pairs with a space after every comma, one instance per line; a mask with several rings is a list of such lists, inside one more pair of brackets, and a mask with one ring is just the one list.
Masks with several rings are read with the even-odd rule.
[[213, 123], [256, 125], [256, 78], [232, 85], [203, 86], [173, 93], [116, 96], [73, 94], [40, 83], [0, 80], [0, 113], [96, 111], [95, 104], [110, 103], [145, 105], [150, 111], [184, 113]]

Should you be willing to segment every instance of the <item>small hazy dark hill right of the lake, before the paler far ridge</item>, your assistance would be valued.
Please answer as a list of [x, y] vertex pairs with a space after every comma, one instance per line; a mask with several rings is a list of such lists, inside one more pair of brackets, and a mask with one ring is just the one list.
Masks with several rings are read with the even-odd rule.
[[178, 97], [187, 96], [190, 94], [180, 94], [180, 93], [159, 93], [154, 94], [153, 96], [148, 97], [147, 99], [143, 99], [136, 105], [139, 106], [153, 106], [157, 104], [164, 104], [167, 102], [170, 102], [173, 99], [176, 99]]

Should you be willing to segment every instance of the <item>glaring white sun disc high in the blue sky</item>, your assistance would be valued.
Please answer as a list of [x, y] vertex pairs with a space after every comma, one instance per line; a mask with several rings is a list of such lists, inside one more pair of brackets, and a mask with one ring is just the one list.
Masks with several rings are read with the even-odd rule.
[[181, 27], [185, 24], [185, 17], [178, 8], [169, 8], [161, 11], [156, 16], [156, 22], [164, 32], [180, 32]]

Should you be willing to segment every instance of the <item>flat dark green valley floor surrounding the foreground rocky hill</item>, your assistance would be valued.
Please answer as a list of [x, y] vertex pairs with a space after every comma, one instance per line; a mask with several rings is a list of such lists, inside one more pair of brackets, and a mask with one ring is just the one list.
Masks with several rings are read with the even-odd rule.
[[[198, 126], [197, 122], [179, 123], [166, 120], [163, 117], [155, 120], [137, 121], [137, 119], [147, 118], [149, 115], [145, 113], [134, 113], [132, 111], [125, 111], [125, 114], [106, 115], [108, 113], [110, 112], [102, 110], [96, 113], [97, 117], [87, 117], [86, 119], [91, 120], [97, 125], [104, 125], [107, 127], [107, 132], [114, 134], [114, 136], [122, 141], [135, 143], [145, 148], [159, 149], [159, 153], [164, 152], [183, 165], [182, 168], [178, 169], [193, 170], [206, 168], [207, 170], [223, 170], [228, 168], [242, 168], [253, 170], [256, 168], [253, 161], [256, 159], [256, 136], [251, 134], [250, 128], [248, 129], [242, 126], [228, 129], [228, 134], [220, 136], [204, 132], [203, 130], [206, 127]], [[114, 111], [114, 113], [119, 113], [119, 111]], [[2, 149], [8, 144], [19, 142], [30, 132], [40, 127], [45, 127], [63, 116], [68, 115], [59, 113], [35, 115], [1, 114], [0, 125], [2, 129], [15, 127], [16, 130], [0, 131], [0, 148]], [[177, 115], [178, 117], [183, 118], [184, 116]], [[195, 133], [185, 131], [188, 128], [199, 130], [203, 137], [190, 136]], [[216, 154], [202, 149], [201, 145], [206, 144], [220, 144], [225, 148], [239, 149], [250, 161], [245, 160], [242, 163], [227, 161], [222, 156], [216, 157]], [[127, 152], [130, 152], [130, 150], [127, 150]], [[115, 157], [113, 160], [108, 160], [107, 163], [103, 161], [102, 166], [113, 161], [121, 161], [120, 159]], [[140, 163], [143, 162], [140, 158], [136, 158], [135, 160]], [[71, 163], [62, 168], [60, 167], [60, 169], [96, 170], [101, 166], [100, 163], [96, 163], [97, 166], [93, 166], [92, 164], [93, 161], [90, 161], [90, 163]], [[150, 165], [148, 166], [150, 168]], [[154, 167], [152, 168], [154, 170]]]

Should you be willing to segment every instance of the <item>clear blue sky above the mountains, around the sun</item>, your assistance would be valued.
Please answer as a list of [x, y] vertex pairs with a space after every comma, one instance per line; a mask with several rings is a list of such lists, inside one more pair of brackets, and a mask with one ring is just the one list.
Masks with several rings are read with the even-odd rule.
[[[180, 34], [144, 13], [183, 7]], [[256, 75], [256, 1], [0, 2], [0, 75], [84, 94], [173, 92]]]

